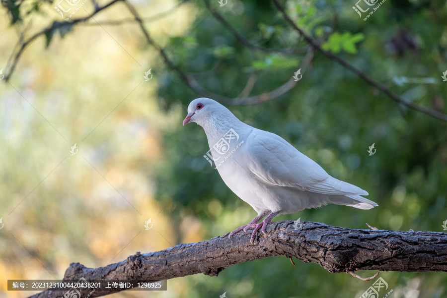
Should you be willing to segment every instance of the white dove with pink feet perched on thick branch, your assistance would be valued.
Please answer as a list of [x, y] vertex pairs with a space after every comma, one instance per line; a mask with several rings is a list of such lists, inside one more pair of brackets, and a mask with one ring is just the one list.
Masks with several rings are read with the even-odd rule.
[[225, 184], [258, 213], [228, 238], [253, 228], [250, 238], [253, 243], [258, 230], [261, 228], [266, 234], [266, 226], [278, 214], [297, 213], [329, 203], [359, 209], [378, 206], [361, 196], [368, 195], [367, 191], [331, 177], [282, 137], [245, 124], [212, 99], [193, 100], [183, 125], [189, 122], [196, 122], [205, 130]]

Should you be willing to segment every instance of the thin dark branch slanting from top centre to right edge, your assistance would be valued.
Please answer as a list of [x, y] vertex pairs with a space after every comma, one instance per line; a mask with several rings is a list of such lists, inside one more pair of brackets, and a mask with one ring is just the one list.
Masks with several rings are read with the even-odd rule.
[[423, 107], [423, 106], [418, 106], [415, 105], [413, 103], [407, 102], [406, 100], [404, 100], [403, 98], [397, 96], [396, 94], [394, 94], [393, 92], [391, 92], [385, 85], [373, 80], [371, 77], [369, 77], [366, 73], [362, 72], [360, 69], [357, 69], [354, 65], [351, 65], [350, 63], [348, 63], [347, 61], [341, 59], [338, 56], [335, 56], [334, 54], [328, 52], [328, 51], [324, 51], [320, 45], [318, 43], [316, 43], [312, 38], [310, 38], [310, 36], [308, 36], [306, 33], [304, 33], [303, 30], [301, 30], [300, 28], [298, 28], [298, 26], [295, 24], [295, 22], [290, 18], [290, 16], [286, 13], [286, 11], [284, 10], [284, 7], [281, 6], [281, 4], [279, 3], [279, 0], [273, 0], [273, 2], [275, 3], [276, 7], [278, 8], [279, 11], [281, 11], [281, 13], [283, 14], [284, 18], [286, 19], [286, 21], [296, 30], [298, 31], [299, 34], [301, 34], [301, 36], [310, 44], [312, 45], [312, 47], [316, 50], [318, 50], [320, 53], [322, 53], [324, 56], [326, 56], [327, 58], [329, 58], [330, 60], [333, 60], [337, 63], [339, 63], [340, 65], [342, 65], [343, 67], [345, 67], [346, 69], [351, 70], [352, 72], [354, 72], [356, 75], [358, 75], [359, 77], [361, 77], [365, 82], [367, 82], [368, 84], [370, 84], [371, 86], [379, 89], [380, 91], [382, 91], [384, 94], [386, 94], [389, 98], [391, 98], [393, 101], [395, 101], [398, 104], [402, 104], [410, 109], [413, 109], [415, 111], [418, 112], [422, 112], [425, 114], [428, 114], [432, 117], [441, 119], [443, 121], [447, 121], [447, 115], [440, 113], [436, 110], [430, 109], [428, 107]]

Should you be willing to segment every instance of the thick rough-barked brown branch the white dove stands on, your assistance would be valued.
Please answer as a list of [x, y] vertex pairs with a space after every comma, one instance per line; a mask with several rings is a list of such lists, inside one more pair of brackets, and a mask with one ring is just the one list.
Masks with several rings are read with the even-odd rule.
[[[203, 273], [217, 276], [228, 266], [282, 255], [313, 262], [331, 273], [356, 270], [400, 272], [447, 271], [447, 234], [355, 230], [321, 223], [272, 222], [267, 235], [250, 244], [249, 233], [239, 232], [198, 243], [179, 244], [157, 252], [129, 256], [127, 260], [101, 268], [72, 263], [64, 280], [120, 279], [159, 281]], [[120, 290], [95, 291], [100, 297]], [[43, 291], [33, 298], [60, 298], [66, 291]], [[89, 292], [81, 292], [86, 297]]]

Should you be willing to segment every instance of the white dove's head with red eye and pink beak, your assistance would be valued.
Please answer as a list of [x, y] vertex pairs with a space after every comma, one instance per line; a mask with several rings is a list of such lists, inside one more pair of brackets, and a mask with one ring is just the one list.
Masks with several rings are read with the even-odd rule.
[[207, 122], [227, 116], [228, 113], [232, 116], [231, 112], [217, 101], [206, 97], [196, 98], [189, 103], [188, 115], [183, 120], [183, 125], [196, 122], [203, 127]]

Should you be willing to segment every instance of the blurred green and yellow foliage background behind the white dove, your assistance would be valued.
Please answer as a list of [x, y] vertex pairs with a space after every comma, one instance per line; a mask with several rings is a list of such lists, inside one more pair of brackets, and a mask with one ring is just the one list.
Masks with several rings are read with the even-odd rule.
[[[291, 53], [243, 45], [203, 1], [130, 2], [173, 65], [215, 94], [269, 92], [302, 68], [291, 91], [229, 109], [281, 135], [330, 175], [366, 189], [379, 206], [329, 205], [276, 220], [443, 231], [445, 121], [396, 104], [335, 61], [309, 52], [270, 1], [210, 5], [252, 44]], [[71, 20], [91, 15], [95, 3], [87, 1]], [[446, 1], [387, 0], [366, 21], [352, 8], [355, 0], [282, 3], [324, 49], [405, 100], [446, 113]], [[0, 297], [33, 294], [8, 292], [8, 279], [61, 279], [71, 262], [106, 266], [137, 251], [224, 235], [255, 216], [203, 158], [209, 150], [203, 129], [181, 125], [188, 103], [201, 95], [166, 66], [123, 1], [39, 36], [12, 73], [20, 42], [64, 19], [56, 2], [1, 4], [0, 68], [8, 80], [0, 81]], [[145, 81], [149, 69], [153, 77]], [[71, 155], [75, 143], [78, 152]], [[153, 226], [145, 230], [149, 219]], [[169, 280], [165, 292], [113, 297], [357, 298], [371, 285], [296, 263], [278, 256], [229, 267], [219, 277]], [[447, 295], [445, 273], [380, 276], [391, 298]]]

